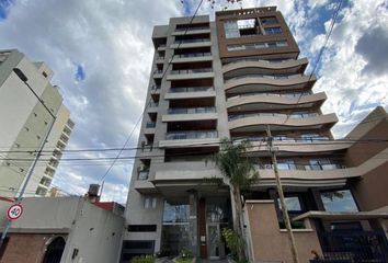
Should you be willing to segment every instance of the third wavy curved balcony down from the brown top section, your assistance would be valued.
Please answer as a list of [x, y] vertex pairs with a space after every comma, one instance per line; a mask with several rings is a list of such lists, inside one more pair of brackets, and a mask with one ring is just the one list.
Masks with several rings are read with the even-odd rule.
[[304, 93], [248, 93], [228, 99], [227, 108], [233, 111], [286, 110], [295, 107], [319, 107], [327, 99], [324, 92]]

